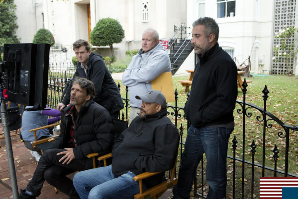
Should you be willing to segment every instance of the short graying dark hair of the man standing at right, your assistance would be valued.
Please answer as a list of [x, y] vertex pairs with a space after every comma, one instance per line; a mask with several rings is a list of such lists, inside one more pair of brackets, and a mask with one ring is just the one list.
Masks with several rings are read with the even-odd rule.
[[218, 40], [219, 27], [216, 21], [211, 17], [201, 17], [192, 23], [192, 27], [197, 25], [205, 26], [205, 36], [208, 37], [211, 33], [215, 35], [215, 41]]

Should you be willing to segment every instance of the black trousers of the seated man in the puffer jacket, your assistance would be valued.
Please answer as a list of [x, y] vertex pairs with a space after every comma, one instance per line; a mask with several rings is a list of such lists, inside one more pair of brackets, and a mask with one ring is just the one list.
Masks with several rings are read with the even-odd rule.
[[62, 164], [62, 162], [59, 162], [59, 159], [63, 155], [56, 155], [61, 151], [65, 151], [65, 149], [49, 149], [43, 153], [38, 161], [33, 177], [26, 187], [26, 191], [32, 192], [33, 196], [38, 197], [43, 187], [43, 182], [46, 180], [70, 198], [79, 198], [72, 180], [65, 177], [65, 175], [78, 170], [93, 168], [92, 159], [74, 159], [69, 164]]

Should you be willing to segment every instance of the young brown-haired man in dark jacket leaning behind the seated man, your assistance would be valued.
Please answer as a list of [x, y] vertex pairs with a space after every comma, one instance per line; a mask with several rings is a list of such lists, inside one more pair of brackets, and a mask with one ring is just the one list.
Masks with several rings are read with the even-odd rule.
[[[94, 102], [106, 108], [113, 118], [118, 118], [119, 110], [123, 109], [123, 101], [102, 56], [91, 52], [90, 44], [83, 39], [73, 43], [73, 48], [78, 59], [73, 78], [80, 76], [91, 80], [95, 85]], [[69, 103], [70, 89], [71, 84], [67, 88], [63, 101], [57, 105], [58, 110], [61, 111]]]

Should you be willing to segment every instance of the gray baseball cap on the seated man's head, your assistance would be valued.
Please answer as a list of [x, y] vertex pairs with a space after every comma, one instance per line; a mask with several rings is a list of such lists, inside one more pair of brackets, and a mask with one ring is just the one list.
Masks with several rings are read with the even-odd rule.
[[141, 99], [147, 103], [155, 102], [156, 104], [160, 104], [163, 108], [167, 108], [168, 104], [165, 95], [159, 90], [150, 90], [145, 95], [136, 95], [136, 99]]

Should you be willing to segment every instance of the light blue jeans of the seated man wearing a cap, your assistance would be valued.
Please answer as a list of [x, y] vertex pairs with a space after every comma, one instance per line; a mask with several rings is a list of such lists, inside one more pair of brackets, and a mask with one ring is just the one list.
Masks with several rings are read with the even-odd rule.
[[130, 199], [139, 193], [139, 183], [133, 180], [134, 176], [128, 172], [115, 178], [110, 165], [78, 172], [73, 183], [81, 199]]

